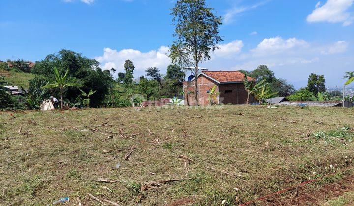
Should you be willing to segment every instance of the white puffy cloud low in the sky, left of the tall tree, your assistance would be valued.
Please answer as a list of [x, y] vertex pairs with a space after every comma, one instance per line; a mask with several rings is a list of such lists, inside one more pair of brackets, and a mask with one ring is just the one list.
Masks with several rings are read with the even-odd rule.
[[144, 75], [144, 71], [148, 67], [165, 69], [171, 63], [166, 55], [168, 50], [169, 48], [166, 46], [161, 46], [159, 49], [149, 52], [141, 52], [134, 49], [117, 51], [111, 48], [104, 48], [103, 55], [95, 59], [101, 63], [103, 69], [111, 69], [113, 67], [120, 72], [124, 71], [125, 60], [130, 59], [135, 66], [135, 76], [139, 77]]

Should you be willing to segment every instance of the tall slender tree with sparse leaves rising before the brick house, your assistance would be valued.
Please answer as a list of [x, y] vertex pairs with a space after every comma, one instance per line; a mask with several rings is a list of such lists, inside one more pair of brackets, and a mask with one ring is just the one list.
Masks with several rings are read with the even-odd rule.
[[[209, 60], [210, 52], [222, 41], [219, 36], [222, 18], [213, 13], [213, 8], [207, 7], [206, 0], [177, 0], [171, 10], [176, 26], [174, 33], [176, 40], [170, 46], [169, 56], [172, 63], [192, 67], [191, 71], [197, 76], [199, 63]], [[196, 79], [194, 98], [198, 106], [197, 93]]]

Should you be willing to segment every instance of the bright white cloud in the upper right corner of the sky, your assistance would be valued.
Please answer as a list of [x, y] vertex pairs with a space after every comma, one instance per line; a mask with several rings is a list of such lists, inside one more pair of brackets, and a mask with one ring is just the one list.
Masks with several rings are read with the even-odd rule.
[[342, 22], [343, 26], [348, 26], [354, 20], [353, 14], [347, 12], [353, 2], [354, 0], [328, 0], [321, 7], [319, 2], [306, 20], [307, 22]]

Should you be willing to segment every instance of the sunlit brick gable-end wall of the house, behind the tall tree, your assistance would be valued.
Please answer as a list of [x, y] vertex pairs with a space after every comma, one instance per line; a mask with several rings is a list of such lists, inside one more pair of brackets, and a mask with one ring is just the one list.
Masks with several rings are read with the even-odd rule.
[[[207, 77], [204, 76], [199, 76], [197, 79], [198, 82], [198, 103], [200, 106], [207, 106], [209, 105], [209, 94], [208, 91], [210, 91], [216, 83], [212, 81], [211, 79], [208, 79]], [[188, 103], [190, 106], [195, 106], [195, 101], [194, 101], [194, 95], [195, 94], [189, 94], [188, 95], [188, 100], [187, 100], [187, 91], [192, 91], [194, 92], [194, 81], [185, 81], [183, 82], [183, 91], [184, 91], [184, 104], [187, 106]], [[216, 88], [216, 91], [218, 91], [218, 88]]]

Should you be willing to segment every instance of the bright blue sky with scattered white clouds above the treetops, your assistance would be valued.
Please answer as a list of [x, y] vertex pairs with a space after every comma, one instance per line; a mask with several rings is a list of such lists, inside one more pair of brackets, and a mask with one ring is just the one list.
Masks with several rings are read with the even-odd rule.
[[[165, 73], [176, 0], [0, 0], [0, 60], [41, 60], [61, 49], [122, 71], [125, 59]], [[224, 17], [211, 70], [266, 64], [296, 88], [311, 72], [341, 86], [354, 65], [354, 0], [207, 0]]]

